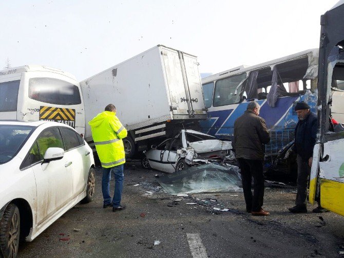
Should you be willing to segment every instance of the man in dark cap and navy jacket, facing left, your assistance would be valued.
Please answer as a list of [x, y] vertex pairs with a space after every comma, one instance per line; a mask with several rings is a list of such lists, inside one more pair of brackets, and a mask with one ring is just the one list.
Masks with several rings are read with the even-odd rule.
[[294, 151], [297, 154], [297, 194], [293, 213], [307, 212], [307, 184], [311, 174], [313, 148], [317, 132], [317, 115], [310, 111], [305, 102], [298, 102], [295, 111], [299, 121], [295, 127]]

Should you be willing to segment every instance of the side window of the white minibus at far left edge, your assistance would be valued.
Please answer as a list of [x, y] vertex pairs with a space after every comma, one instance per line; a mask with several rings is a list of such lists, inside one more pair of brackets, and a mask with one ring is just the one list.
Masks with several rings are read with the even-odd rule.
[[0, 112], [17, 110], [20, 81], [0, 83]]

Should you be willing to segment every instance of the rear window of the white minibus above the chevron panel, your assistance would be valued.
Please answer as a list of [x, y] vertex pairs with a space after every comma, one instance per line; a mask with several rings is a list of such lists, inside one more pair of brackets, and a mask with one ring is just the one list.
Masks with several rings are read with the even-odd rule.
[[29, 98], [56, 105], [81, 104], [78, 86], [53, 78], [29, 79]]

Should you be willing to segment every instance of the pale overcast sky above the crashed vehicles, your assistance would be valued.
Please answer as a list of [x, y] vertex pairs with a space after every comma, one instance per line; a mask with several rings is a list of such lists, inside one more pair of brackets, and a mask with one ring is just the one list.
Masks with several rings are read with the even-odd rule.
[[1, 1], [0, 69], [40, 64], [78, 81], [162, 44], [200, 72], [255, 65], [319, 46], [337, 0]]

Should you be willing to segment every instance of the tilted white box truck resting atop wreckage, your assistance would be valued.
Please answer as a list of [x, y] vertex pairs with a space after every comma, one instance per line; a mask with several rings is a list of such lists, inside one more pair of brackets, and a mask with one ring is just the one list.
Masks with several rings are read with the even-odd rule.
[[197, 57], [158, 45], [80, 82], [86, 141], [91, 141], [87, 121], [110, 103], [129, 131], [124, 141], [129, 157], [146, 150], [152, 138], [205, 119], [198, 65]]

